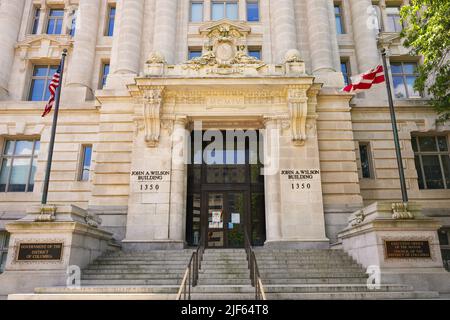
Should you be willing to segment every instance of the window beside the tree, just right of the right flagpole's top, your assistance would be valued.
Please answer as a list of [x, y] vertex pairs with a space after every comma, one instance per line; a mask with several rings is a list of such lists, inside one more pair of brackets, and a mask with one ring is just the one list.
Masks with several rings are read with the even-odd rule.
[[419, 92], [414, 90], [418, 72], [416, 62], [391, 62], [394, 95], [398, 99], [420, 98]]

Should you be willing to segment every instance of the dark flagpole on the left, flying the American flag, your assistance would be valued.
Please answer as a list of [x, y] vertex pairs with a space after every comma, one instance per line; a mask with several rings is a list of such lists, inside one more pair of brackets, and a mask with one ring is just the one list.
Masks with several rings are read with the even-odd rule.
[[53, 161], [53, 149], [55, 147], [55, 136], [56, 136], [56, 126], [58, 124], [58, 113], [59, 113], [59, 102], [61, 100], [61, 88], [63, 85], [63, 75], [64, 75], [64, 65], [66, 62], [67, 49], [63, 50], [62, 58], [61, 58], [61, 77], [59, 86], [56, 89], [56, 100], [55, 100], [55, 110], [53, 114], [53, 125], [52, 125], [52, 135], [50, 137], [50, 144], [48, 147], [48, 158], [47, 158], [47, 169], [45, 171], [45, 180], [44, 180], [44, 189], [42, 192], [42, 205], [47, 204], [48, 197], [48, 186], [50, 183], [50, 172], [52, 170], [52, 161]]

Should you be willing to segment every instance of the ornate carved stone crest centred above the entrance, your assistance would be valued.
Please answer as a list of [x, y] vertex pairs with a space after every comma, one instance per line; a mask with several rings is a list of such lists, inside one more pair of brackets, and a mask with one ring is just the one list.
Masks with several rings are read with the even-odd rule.
[[200, 32], [205, 37], [203, 54], [201, 57], [187, 61], [184, 69], [200, 70], [203, 67], [213, 67], [211, 70], [218, 74], [236, 73], [240, 69], [233, 67], [260, 68], [264, 62], [248, 55], [246, 35], [250, 29], [231, 21], [213, 23], [202, 28]]

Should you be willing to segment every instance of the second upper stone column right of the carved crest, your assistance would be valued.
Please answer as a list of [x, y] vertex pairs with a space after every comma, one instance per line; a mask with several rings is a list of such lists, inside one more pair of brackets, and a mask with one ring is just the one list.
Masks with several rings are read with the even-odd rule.
[[332, 28], [329, 24], [328, 0], [307, 0], [308, 36], [312, 71], [333, 72]]

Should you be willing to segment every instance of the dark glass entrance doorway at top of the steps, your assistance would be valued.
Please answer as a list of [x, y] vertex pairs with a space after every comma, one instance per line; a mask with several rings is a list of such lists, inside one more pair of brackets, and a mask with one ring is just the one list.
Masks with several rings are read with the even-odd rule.
[[[238, 137], [243, 139], [238, 142], [230, 138], [236, 135], [234, 131], [216, 131], [216, 148], [212, 148], [212, 139], [194, 142], [194, 136], [198, 139], [199, 134], [212, 135], [192, 134], [186, 241], [196, 246], [203, 237], [208, 248], [243, 248], [247, 230], [253, 245], [263, 245], [264, 176], [259, 160], [262, 137], [255, 131], [253, 136], [246, 133], [244, 138]], [[217, 144], [220, 140], [223, 144]]]

